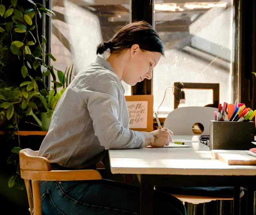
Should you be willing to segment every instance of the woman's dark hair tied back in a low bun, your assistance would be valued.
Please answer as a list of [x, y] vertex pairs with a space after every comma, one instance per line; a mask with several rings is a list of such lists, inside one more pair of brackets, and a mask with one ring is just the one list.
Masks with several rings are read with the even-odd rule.
[[136, 21], [120, 28], [108, 42], [97, 47], [97, 54], [103, 54], [107, 49], [110, 53], [118, 53], [138, 44], [142, 50], [159, 52], [164, 55], [165, 46], [153, 27], [145, 21]]

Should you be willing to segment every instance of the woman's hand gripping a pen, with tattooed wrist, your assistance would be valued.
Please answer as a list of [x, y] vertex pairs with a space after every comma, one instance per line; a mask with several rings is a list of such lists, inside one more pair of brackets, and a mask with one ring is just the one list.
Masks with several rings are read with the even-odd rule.
[[162, 147], [172, 142], [173, 132], [167, 128], [155, 130], [153, 132], [143, 132], [145, 136], [145, 147]]

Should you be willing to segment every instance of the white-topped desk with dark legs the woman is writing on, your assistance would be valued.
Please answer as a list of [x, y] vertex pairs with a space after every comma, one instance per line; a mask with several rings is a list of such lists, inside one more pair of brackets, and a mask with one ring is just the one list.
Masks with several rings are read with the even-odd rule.
[[141, 215], [152, 213], [148, 198], [153, 195], [150, 189], [157, 180], [161, 185], [171, 183], [173, 186], [236, 186], [234, 210], [239, 210], [239, 187], [247, 186], [246, 181], [249, 184], [255, 181], [256, 166], [227, 165], [216, 160], [211, 156], [209, 147], [199, 142], [199, 136], [173, 136], [173, 139], [198, 142], [185, 143], [193, 146], [189, 148], [109, 150], [113, 174], [141, 175]]

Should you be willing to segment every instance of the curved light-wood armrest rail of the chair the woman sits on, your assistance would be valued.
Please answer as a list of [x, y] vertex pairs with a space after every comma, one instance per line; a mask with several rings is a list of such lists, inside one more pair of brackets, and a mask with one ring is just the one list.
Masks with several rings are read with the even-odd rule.
[[51, 170], [31, 171], [20, 170], [21, 178], [38, 181], [83, 181], [100, 180], [101, 174], [97, 170]]

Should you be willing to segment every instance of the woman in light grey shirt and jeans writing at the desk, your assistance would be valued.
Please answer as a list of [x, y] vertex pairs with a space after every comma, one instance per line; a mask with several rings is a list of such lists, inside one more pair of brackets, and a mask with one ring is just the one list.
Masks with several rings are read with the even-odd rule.
[[[129, 129], [129, 113], [120, 82], [135, 85], [151, 79], [152, 69], [164, 54], [164, 44], [144, 21], [128, 24], [97, 47], [110, 49], [109, 57], [78, 73], [60, 98], [38, 156], [53, 169], [95, 169], [108, 149], [165, 146], [168, 129], [138, 132]], [[139, 214], [138, 187], [109, 180], [41, 181], [44, 214]], [[155, 214], [185, 215], [182, 202], [154, 193]]]

